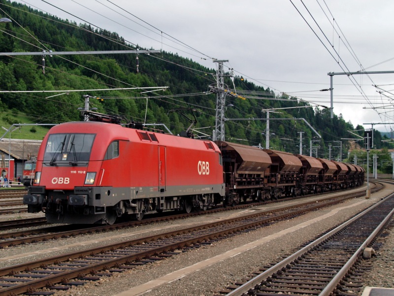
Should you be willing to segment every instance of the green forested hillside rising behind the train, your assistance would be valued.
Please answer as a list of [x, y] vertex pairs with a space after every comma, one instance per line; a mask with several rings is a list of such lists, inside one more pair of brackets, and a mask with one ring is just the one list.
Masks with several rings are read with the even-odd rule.
[[[91, 51], [136, 49], [125, 42], [116, 32], [92, 29], [88, 24], [66, 23], [29, 7], [0, 0], [0, 8], [17, 23], [0, 23], [0, 52]], [[0, 11], [0, 14], [2, 12]], [[137, 40], [131, 40], [131, 42]], [[142, 48], [141, 48], [142, 49]], [[0, 56], [0, 89], [5, 91], [48, 90], [95, 90], [106, 88], [131, 88], [167, 86], [165, 91], [141, 94], [141, 90], [82, 91], [68, 93], [0, 93], [2, 111], [18, 110], [27, 114], [26, 122], [61, 123], [81, 120], [78, 108], [84, 107], [84, 95], [99, 99], [90, 100], [90, 108], [99, 112], [119, 114], [129, 120], [146, 123], [164, 123], [174, 134], [185, 131], [197, 117], [199, 133], [212, 135], [215, 126], [215, 94], [209, 93], [209, 85], [216, 85], [216, 63], [212, 69], [182, 58], [170, 52], [139, 54], [139, 73], [136, 71], [135, 54], [114, 55], [53, 55], [45, 56], [45, 74], [42, 56]], [[225, 69], [229, 71], [229, 69]], [[228, 73], [230, 74], [230, 73]], [[233, 90], [230, 77], [225, 78], [229, 91]], [[234, 79], [235, 89], [245, 100], [227, 97], [226, 140], [265, 147], [265, 118], [262, 109], [307, 106], [295, 98], [275, 97], [270, 89], [264, 89], [241, 77]], [[56, 96], [55, 96], [56, 95]], [[194, 109], [174, 112], [174, 109]], [[2, 112], [4, 117], [4, 112]], [[185, 116], [183, 116], [184, 114]], [[189, 119], [188, 119], [189, 118]], [[316, 134], [301, 119], [304, 118], [323, 139], [319, 142], [319, 157], [328, 157], [328, 146], [333, 141], [350, 138], [348, 130], [360, 130], [345, 122], [341, 115], [330, 118], [329, 109], [299, 108], [271, 113], [271, 141], [274, 149], [297, 152], [302, 132], [304, 154], [309, 154], [309, 143]], [[3, 118], [4, 119], [4, 118]], [[16, 122], [12, 113], [5, 118]], [[4, 119], [4, 120], [5, 120]], [[203, 133], [203, 134], [202, 134]], [[362, 131], [359, 131], [362, 135]], [[317, 139], [313, 139], [317, 140]], [[375, 131], [375, 146], [381, 147], [381, 135]], [[347, 142], [343, 141], [345, 151]], [[338, 149], [337, 149], [338, 150]]]

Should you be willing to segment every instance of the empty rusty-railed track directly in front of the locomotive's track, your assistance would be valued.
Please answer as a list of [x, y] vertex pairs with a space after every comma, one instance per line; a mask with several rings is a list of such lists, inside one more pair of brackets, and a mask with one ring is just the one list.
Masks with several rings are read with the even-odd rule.
[[[237, 231], [250, 231], [261, 225], [281, 219], [290, 219], [304, 212], [337, 202], [338, 199], [335, 198], [326, 202], [321, 201], [318, 205], [316, 205], [316, 201], [312, 201], [308, 204], [298, 205], [296, 209], [293, 206], [255, 213], [1, 268], [0, 286], [2, 285], [2, 289], [0, 289], [0, 296], [33, 292], [34, 289], [44, 286], [51, 290], [64, 290], [72, 285], [81, 285], [85, 281], [97, 280], [104, 274], [110, 275], [111, 272], [121, 272], [136, 265], [178, 254], [174, 252], [177, 249], [197, 248], [204, 244], [210, 244], [210, 240], [234, 235]], [[50, 295], [45, 293], [51, 293], [51, 291], [40, 291], [39, 293]]]

